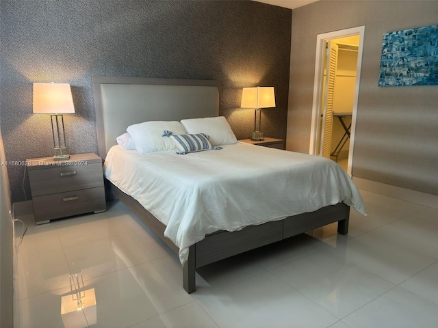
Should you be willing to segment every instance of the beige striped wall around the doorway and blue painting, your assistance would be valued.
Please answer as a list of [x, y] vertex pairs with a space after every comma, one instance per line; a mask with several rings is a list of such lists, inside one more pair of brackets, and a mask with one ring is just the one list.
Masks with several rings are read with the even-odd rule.
[[438, 24], [438, 1], [318, 1], [292, 10], [287, 150], [309, 152], [316, 37], [365, 26], [352, 175], [438, 195], [438, 86], [378, 87], [383, 33]]

